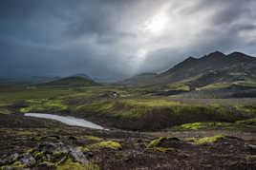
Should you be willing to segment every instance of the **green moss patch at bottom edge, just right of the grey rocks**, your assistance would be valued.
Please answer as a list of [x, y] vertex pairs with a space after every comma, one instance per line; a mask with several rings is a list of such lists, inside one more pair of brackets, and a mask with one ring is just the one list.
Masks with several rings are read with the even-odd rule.
[[92, 163], [84, 163], [84, 164], [80, 164], [78, 162], [74, 162], [71, 159], [68, 159], [67, 161], [65, 161], [64, 164], [61, 164], [59, 166], [57, 166], [56, 168], [57, 170], [71, 170], [71, 169], [75, 169], [75, 170], [99, 170], [99, 167], [96, 164], [92, 164]]

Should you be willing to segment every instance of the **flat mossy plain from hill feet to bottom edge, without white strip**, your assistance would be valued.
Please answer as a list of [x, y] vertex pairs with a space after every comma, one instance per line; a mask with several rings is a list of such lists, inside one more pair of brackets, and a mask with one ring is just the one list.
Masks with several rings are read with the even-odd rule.
[[[159, 96], [147, 93], [148, 90], [147, 87], [110, 85], [1, 88], [0, 167], [256, 167], [255, 151], [245, 147], [245, 143], [256, 144], [256, 99], [187, 99], [175, 95]], [[26, 112], [75, 116], [111, 130], [92, 130], [28, 118], [23, 116]], [[236, 136], [229, 137], [231, 132]], [[246, 135], [248, 133], [250, 135]], [[88, 161], [74, 161], [64, 151], [38, 151], [38, 144], [56, 143], [77, 147]], [[11, 157], [14, 153], [22, 158], [30, 155], [36, 162], [24, 164], [19, 157]], [[12, 161], [5, 161], [7, 158]]]

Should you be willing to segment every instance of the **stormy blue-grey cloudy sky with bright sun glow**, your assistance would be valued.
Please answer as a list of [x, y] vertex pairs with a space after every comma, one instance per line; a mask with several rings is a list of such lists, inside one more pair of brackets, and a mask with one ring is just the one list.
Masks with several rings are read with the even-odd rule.
[[118, 80], [221, 50], [256, 56], [255, 0], [6, 0], [0, 76]]

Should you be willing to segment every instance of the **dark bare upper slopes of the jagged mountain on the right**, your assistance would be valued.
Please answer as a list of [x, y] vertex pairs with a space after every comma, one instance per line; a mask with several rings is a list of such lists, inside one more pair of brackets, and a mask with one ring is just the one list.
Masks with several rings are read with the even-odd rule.
[[[245, 54], [234, 52], [229, 55], [217, 51], [209, 55], [203, 56], [200, 59], [188, 58], [181, 62], [179, 65], [167, 70], [160, 74], [158, 79], [167, 79], [169, 82], [178, 82], [187, 78], [191, 78], [207, 71], [218, 71], [224, 74], [224, 80], [233, 81], [239, 78], [250, 77], [255, 75], [256, 58], [249, 57]], [[237, 74], [237, 76], [234, 76]], [[228, 77], [232, 75], [232, 79]], [[215, 81], [214, 81], [215, 82]]]

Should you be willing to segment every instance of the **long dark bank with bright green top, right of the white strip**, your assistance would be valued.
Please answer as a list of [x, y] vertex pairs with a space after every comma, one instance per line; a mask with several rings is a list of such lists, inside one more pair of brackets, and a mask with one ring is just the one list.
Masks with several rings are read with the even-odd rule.
[[[174, 125], [186, 124], [182, 129], [200, 129], [228, 126], [245, 119], [244, 112], [234, 111], [231, 105], [181, 104], [163, 99], [121, 99], [101, 100], [84, 104], [79, 112], [96, 113], [96, 116], [117, 123], [117, 128], [156, 130]], [[248, 116], [251, 114], [248, 114]], [[206, 122], [200, 123], [199, 122]], [[217, 122], [217, 123], [207, 123]]]

